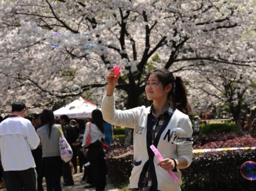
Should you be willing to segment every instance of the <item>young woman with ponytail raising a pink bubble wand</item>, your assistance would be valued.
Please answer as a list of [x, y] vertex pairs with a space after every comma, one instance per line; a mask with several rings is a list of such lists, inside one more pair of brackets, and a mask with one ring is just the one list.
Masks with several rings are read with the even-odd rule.
[[[107, 93], [102, 101], [104, 120], [118, 126], [134, 128], [134, 168], [130, 177], [132, 191], [180, 191], [168, 170], [180, 179], [180, 168], [192, 162], [192, 125], [188, 117], [190, 106], [180, 77], [170, 71], [154, 70], [149, 74], [145, 93], [152, 100], [151, 107], [116, 110], [114, 88], [120, 76], [113, 69], [107, 74]], [[187, 140], [175, 145], [170, 140], [174, 128], [182, 128]], [[154, 144], [164, 160], [154, 157], [150, 145]]]

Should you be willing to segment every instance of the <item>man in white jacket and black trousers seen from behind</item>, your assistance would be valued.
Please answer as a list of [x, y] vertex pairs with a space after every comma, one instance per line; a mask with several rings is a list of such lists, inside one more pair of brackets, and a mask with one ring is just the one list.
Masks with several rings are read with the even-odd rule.
[[25, 119], [26, 105], [12, 103], [12, 114], [0, 123], [0, 151], [6, 171], [8, 191], [37, 191], [37, 173], [31, 150], [40, 139], [31, 122]]

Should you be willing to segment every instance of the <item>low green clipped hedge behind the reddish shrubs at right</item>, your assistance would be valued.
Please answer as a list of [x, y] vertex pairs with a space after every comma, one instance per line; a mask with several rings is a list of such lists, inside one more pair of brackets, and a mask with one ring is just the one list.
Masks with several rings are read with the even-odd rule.
[[226, 133], [226, 132], [236, 132], [239, 131], [239, 127], [233, 123], [213, 123], [200, 125], [200, 134], [212, 134], [212, 133]]

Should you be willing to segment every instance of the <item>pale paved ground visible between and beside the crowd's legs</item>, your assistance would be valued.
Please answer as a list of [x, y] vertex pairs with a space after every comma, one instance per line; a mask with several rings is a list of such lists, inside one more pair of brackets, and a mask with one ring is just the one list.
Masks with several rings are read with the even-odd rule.
[[[95, 188], [84, 188], [84, 185], [86, 184], [80, 184], [79, 181], [81, 180], [83, 176], [83, 173], [77, 173], [73, 174], [73, 179], [75, 182], [75, 185], [73, 186], [62, 186], [62, 191], [95, 191]], [[63, 183], [63, 178], [61, 177], [61, 182]], [[43, 180], [43, 186], [44, 186], [44, 191], [46, 191], [46, 184], [45, 181]], [[113, 185], [108, 183], [107, 186], [108, 191], [118, 191], [117, 188], [114, 188]], [[0, 191], [5, 191], [5, 189], [0, 189]]]

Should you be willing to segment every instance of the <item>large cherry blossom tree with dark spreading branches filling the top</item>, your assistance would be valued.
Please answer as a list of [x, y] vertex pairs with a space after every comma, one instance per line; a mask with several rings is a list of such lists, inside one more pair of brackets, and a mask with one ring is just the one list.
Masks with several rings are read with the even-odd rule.
[[[241, 37], [255, 13], [247, 9], [251, 2], [0, 0], [2, 111], [18, 99], [29, 108], [56, 107], [78, 95], [100, 104], [105, 74], [116, 64], [122, 67], [116, 96], [125, 108], [140, 105], [153, 68], [189, 77], [198, 66], [253, 67], [255, 44]], [[80, 94], [70, 92], [73, 84]]]

